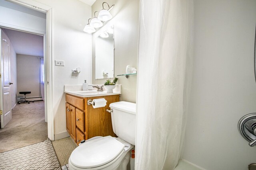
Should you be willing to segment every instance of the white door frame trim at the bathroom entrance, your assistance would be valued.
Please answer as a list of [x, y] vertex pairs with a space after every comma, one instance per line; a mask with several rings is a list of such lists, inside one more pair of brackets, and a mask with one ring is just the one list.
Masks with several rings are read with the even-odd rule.
[[[18, 19], [15, 18], [15, 16], [17, 15], [7, 15], [7, 13], [5, 13], [4, 16], [9, 16], [9, 17], [13, 16], [14, 18], [12, 18], [12, 20], [6, 20], [6, 21], [0, 22], [0, 27], [16, 29], [16, 30], [44, 36], [45, 115], [47, 117], [46, 119], [48, 122], [48, 138], [54, 141], [54, 114], [52, 109], [52, 97], [53, 97], [52, 96], [52, 91], [53, 91], [52, 90], [52, 8], [34, 1], [30, 1], [30, 2], [28, 2], [27, 0], [18, 0], [18, 1], [8, 0], [8, 1], [18, 4], [23, 8], [25, 7], [30, 10], [32, 9], [34, 11], [39, 11], [41, 13], [46, 14], [46, 29], [44, 30], [38, 27], [38, 25], [40, 24], [38, 24], [37, 21], [39, 21], [40, 19], [29, 22], [29, 24], [24, 24], [27, 22], [17, 21]], [[0, 7], [1, 7], [1, 4], [0, 4]], [[23, 17], [24, 16], [18, 16], [20, 20], [23, 20], [24, 19]], [[9, 21], [12, 21], [12, 23], [9, 23]], [[21, 25], [21, 24], [24, 24], [24, 25]]]

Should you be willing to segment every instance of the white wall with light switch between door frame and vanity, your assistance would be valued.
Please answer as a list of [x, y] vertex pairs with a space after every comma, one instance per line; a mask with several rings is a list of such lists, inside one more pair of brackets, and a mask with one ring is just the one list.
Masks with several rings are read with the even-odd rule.
[[[66, 133], [65, 84], [92, 83], [92, 38], [83, 31], [91, 7], [78, 0], [35, 0], [52, 7], [53, 60], [65, 61], [65, 66], [53, 66], [54, 134]], [[81, 68], [78, 76], [72, 69]]]

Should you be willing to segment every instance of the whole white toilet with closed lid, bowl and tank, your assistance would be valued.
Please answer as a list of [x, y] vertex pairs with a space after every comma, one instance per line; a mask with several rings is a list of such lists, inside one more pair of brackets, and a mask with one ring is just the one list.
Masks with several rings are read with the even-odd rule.
[[126, 170], [135, 145], [136, 104], [110, 104], [114, 133], [118, 138], [93, 137], [80, 144], [68, 160], [70, 170]]

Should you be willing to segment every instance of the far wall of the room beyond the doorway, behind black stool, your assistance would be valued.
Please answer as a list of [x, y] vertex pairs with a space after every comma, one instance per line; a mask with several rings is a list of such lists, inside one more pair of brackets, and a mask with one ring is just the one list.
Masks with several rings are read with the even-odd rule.
[[[19, 92], [30, 91], [26, 97], [38, 97], [41, 95], [40, 88], [40, 59], [37, 56], [17, 54], [17, 84]], [[35, 98], [29, 100], [42, 100]]]

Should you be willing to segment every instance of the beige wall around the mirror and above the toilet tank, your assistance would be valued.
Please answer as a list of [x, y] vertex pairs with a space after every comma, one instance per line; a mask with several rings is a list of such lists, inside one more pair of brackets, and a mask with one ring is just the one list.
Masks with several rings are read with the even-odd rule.
[[[102, 9], [105, 0], [96, 0], [92, 5], [92, 15]], [[110, 11], [113, 18], [104, 24], [110, 26], [114, 23], [114, 76], [125, 74], [126, 66], [137, 67], [138, 53], [138, 24], [139, 24], [139, 0], [108, 0], [110, 6], [115, 4]], [[96, 14], [97, 15], [97, 14]], [[104, 29], [104, 27], [102, 28]], [[100, 29], [100, 30], [102, 30]], [[95, 80], [95, 37], [92, 38], [92, 82], [104, 84], [106, 79]], [[122, 101], [136, 102], [137, 76], [118, 76], [118, 84], [122, 84]]]

